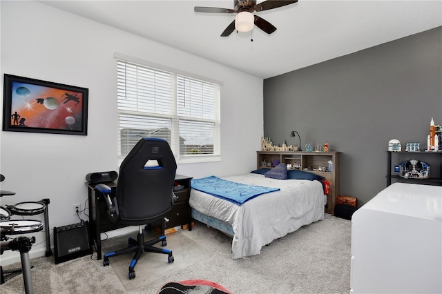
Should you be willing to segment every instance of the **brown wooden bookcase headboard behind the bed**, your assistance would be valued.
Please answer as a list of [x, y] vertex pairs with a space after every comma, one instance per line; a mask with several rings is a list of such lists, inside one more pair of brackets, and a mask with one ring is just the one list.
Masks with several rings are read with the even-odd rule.
[[[325, 180], [330, 183], [329, 193], [327, 195], [327, 205], [325, 206], [325, 213], [334, 215], [334, 206], [336, 205], [336, 197], [339, 194], [339, 155], [340, 152], [272, 152], [272, 151], [257, 151], [257, 168], [271, 168], [271, 166], [262, 166], [262, 162], [269, 161], [273, 163], [273, 160], [279, 160], [283, 164], [291, 164], [292, 166], [299, 166], [298, 169], [304, 170], [305, 168], [311, 168], [312, 170], [306, 170], [309, 173], [321, 175], [325, 177]], [[332, 171], [319, 171], [319, 166], [329, 166], [329, 161], [332, 161]]]

